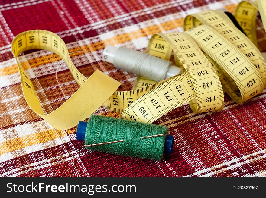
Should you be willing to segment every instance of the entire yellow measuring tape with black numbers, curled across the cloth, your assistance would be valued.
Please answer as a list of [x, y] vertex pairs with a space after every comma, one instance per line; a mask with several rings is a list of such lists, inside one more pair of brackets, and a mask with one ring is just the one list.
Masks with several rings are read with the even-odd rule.
[[[240, 16], [240, 12], [245, 15], [243, 9], [250, 5], [253, 7], [248, 9], [256, 9], [257, 12], [255, 3], [241, 2], [235, 16]], [[265, 5], [265, 1], [258, 2], [260, 13]], [[261, 17], [265, 23], [264, 15], [265, 12]], [[242, 20], [243, 16], [236, 17], [238, 22], [239, 18]], [[187, 30], [184, 33], [153, 35], [147, 52], [169, 60], [174, 51], [176, 64], [185, 68], [186, 72], [155, 84], [151, 80], [138, 78], [138, 87], [145, 87], [124, 92], [115, 92], [120, 83], [99, 70], [89, 79], [84, 77], [71, 62], [63, 40], [49, 31], [30, 30], [21, 33], [15, 37], [11, 47], [16, 59], [21, 52], [29, 49], [54, 52], [63, 58], [81, 86], [63, 105], [44, 115], [34, 85], [24, 71], [23, 64], [18, 61], [22, 90], [28, 105], [59, 130], [75, 126], [102, 104], [112, 111], [121, 112], [122, 118], [152, 123], [187, 102], [190, 102], [193, 112], [222, 109], [222, 86], [238, 103], [262, 92], [266, 84], [265, 61], [256, 44], [247, 39], [222, 11], [187, 16], [184, 29]], [[252, 41], [256, 43], [256, 37], [253, 36]], [[161, 47], [158, 49], [159, 44]]]

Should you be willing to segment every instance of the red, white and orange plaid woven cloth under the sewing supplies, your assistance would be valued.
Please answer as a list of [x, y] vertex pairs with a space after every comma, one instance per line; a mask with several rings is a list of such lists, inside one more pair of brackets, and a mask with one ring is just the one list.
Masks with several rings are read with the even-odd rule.
[[[1, 176], [266, 176], [266, 90], [244, 104], [225, 94], [222, 111], [194, 114], [184, 105], [158, 119], [175, 136], [164, 161], [116, 156], [82, 148], [76, 127], [59, 131], [27, 105], [11, 42], [23, 31], [44, 29], [66, 43], [79, 71], [96, 69], [131, 90], [136, 75], [101, 60], [107, 44], [144, 51], [153, 33], [182, 32], [183, 18], [208, 9], [234, 12], [238, 0], [2, 0], [0, 2], [0, 175]], [[265, 33], [258, 16], [259, 49]], [[85, 55], [80, 51], [88, 51]], [[77, 52], [76, 52], [77, 51]], [[78, 88], [52, 52], [24, 52], [27, 72], [45, 113], [62, 105]], [[63, 89], [58, 86], [57, 78]], [[119, 117], [100, 107], [95, 114]], [[88, 118], [86, 119], [86, 121]]]

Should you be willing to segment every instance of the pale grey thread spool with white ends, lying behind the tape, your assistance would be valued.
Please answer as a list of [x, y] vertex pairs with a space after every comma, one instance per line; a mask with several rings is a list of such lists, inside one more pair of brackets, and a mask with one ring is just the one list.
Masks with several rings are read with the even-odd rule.
[[102, 59], [114, 64], [116, 68], [157, 82], [183, 72], [182, 68], [176, 67], [170, 61], [125, 47], [107, 45]]

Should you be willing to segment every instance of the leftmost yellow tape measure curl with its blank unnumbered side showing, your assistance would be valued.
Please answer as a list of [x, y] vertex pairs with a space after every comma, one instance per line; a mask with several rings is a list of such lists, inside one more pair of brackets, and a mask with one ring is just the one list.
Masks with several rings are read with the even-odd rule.
[[[96, 70], [87, 80], [73, 65], [66, 44], [56, 34], [45, 30], [30, 30], [18, 34], [11, 44], [12, 52], [17, 60], [24, 97], [30, 108], [58, 130], [66, 130], [76, 126], [79, 120], [86, 119], [97, 110], [120, 83]], [[64, 58], [71, 74], [81, 86], [63, 105], [55, 111], [44, 114], [31, 78], [27, 75], [17, 57], [29, 49], [46, 49]], [[25, 68], [27, 69], [27, 68]], [[99, 86], [101, 89], [99, 89]], [[93, 97], [93, 94], [101, 97]]]

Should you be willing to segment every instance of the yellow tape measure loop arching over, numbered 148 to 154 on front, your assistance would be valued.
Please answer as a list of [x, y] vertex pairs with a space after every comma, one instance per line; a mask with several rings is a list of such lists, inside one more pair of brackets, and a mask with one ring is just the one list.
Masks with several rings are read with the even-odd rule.
[[[158, 36], [163, 39], [156, 38]], [[156, 49], [156, 46], [159, 46], [159, 44], [171, 50], [167, 52], [161, 50], [160, 52]], [[181, 85], [179, 85], [174, 90], [171, 90], [171, 93], [175, 94], [177, 92], [176, 98], [178, 100], [180, 99], [178, 93], [181, 93], [180, 96], [184, 93], [189, 93], [190, 95], [195, 94], [197, 100], [192, 100], [190, 103], [195, 113], [222, 109], [224, 106], [224, 98], [219, 77], [206, 56], [190, 36], [186, 33], [155, 34], [151, 37], [147, 52], [151, 55], [165, 57], [165, 59], [169, 60], [172, 49], [183, 68], [186, 69], [191, 80], [187, 80], [190, 89], [183, 90], [180, 87]], [[178, 84], [178, 82], [175, 82], [175, 84]], [[160, 99], [162, 103], [167, 104], [167, 98], [165, 96], [167, 95], [160, 97]], [[209, 102], [206, 102], [206, 98]], [[158, 110], [160, 111], [160, 109]]]

